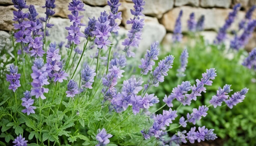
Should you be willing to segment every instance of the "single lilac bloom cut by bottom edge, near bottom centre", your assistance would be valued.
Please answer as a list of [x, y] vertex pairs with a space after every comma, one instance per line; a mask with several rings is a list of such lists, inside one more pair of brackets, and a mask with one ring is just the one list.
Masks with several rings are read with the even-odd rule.
[[107, 134], [107, 131], [105, 128], [102, 128], [102, 130], [98, 129], [98, 134], [96, 136], [96, 139], [99, 141], [99, 143], [96, 146], [107, 145], [110, 142], [109, 138], [111, 137], [112, 137], [112, 134]]

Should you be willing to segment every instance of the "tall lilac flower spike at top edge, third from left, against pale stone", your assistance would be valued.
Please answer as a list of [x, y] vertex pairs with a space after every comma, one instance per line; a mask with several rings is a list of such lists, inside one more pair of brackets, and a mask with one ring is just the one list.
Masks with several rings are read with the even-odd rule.
[[65, 29], [68, 30], [68, 36], [66, 38], [74, 44], [80, 44], [79, 37], [85, 37], [85, 35], [80, 32], [80, 26], [85, 26], [81, 23], [83, 15], [78, 16], [79, 11], [85, 11], [85, 9], [83, 9], [83, 6], [84, 4], [80, 0], [72, 0], [72, 2], [70, 2], [68, 6], [68, 10], [71, 11], [72, 14], [68, 15], [68, 18], [73, 24], [70, 25], [70, 27], [65, 27]]

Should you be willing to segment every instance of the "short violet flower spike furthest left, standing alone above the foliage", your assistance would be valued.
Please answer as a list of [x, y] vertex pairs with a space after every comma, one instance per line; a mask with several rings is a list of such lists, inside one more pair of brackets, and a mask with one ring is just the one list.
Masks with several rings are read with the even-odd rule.
[[10, 65], [10, 74], [6, 74], [6, 81], [10, 82], [9, 88], [15, 92], [20, 87], [20, 74], [18, 73], [18, 66]]

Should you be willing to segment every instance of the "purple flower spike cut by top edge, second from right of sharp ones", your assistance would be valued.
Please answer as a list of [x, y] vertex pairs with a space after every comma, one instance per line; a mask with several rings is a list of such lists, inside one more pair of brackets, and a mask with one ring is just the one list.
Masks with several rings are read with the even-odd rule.
[[118, 12], [118, 7], [121, 5], [119, 4], [119, 0], [110, 0], [108, 1], [108, 5], [110, 6], [111, 12], [109, 12], [109, 25], [111, 26], [110, 32], [117, 32], [120, 27], [115, 22], [116, 19], [122, 20], [122, 12]]

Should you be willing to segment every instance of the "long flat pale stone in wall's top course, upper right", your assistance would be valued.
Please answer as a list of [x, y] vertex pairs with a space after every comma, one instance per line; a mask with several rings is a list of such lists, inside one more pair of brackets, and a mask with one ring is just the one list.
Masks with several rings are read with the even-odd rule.
[[201, 0], [201, 7], [222, 7], [229, 8], [231, 5], [231, 0]]

